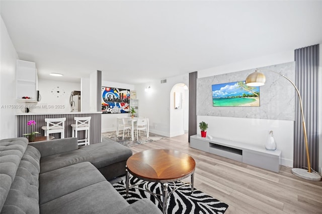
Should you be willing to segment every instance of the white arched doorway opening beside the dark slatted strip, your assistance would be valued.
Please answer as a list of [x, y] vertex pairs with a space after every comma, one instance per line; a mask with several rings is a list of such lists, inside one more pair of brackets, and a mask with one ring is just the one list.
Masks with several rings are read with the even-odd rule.
[[178, 83], [170, 92], [170, 137], [188, 132], [188, 116], [189, 89], [186, 84]]

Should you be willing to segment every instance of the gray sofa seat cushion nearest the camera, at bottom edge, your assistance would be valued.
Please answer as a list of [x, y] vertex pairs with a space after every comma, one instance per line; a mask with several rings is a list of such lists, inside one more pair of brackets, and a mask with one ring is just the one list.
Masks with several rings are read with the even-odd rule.
[[111, 183], [102, 181], [41, 204], [40, 213], [114, 214], [128, 205]]

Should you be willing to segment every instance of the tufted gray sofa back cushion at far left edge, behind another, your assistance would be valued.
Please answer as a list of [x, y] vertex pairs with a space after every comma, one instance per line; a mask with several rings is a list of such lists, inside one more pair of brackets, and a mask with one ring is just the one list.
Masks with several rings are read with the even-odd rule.
[[25, 137], [0, 140], [0, 210], [6, 201], [27, 145], [28, 140]]

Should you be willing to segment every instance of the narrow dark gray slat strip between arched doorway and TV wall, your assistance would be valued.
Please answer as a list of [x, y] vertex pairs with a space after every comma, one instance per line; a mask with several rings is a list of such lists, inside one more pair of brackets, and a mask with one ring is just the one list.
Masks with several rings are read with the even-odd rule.
[[197, 71], [189, 73], [189, 130], [190, 136], [197, 134]]

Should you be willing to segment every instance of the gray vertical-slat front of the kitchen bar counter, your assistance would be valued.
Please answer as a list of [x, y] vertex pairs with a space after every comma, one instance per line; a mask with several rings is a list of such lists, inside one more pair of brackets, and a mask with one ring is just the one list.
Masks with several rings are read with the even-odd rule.
[[[91, 128], [90, 128], [90, 144], [101, 142], [101, 114], [99, 113], [79, 113], [79, 114], [49, 114], [49, 115], [18, 115], [17, 116], [17, 136], [24, 137], [23, 134], [30, 133], [31, 131], [38, 131], [41, 134], [39, 136], [45, 136], [44, 130], [41, 129], [42, 126], [46, 126], [45, 118], [62, 118], [65, 117], [65, 138], [72, 136], [72, 128], [70, 124], [74, 124], [74, 117], [92, 117], [91, 118]], [[35, 126], [28, 126], [27, 122], [29, 120], [35, 120]], [[31, 130], [32, 128], [32, 130]], [[60, 138], [60, 133], [50, 134], [54, 136], [55, 139]], [[85, 136], [85, 131], [78, 131], [78, 139], [83, 139]]]

